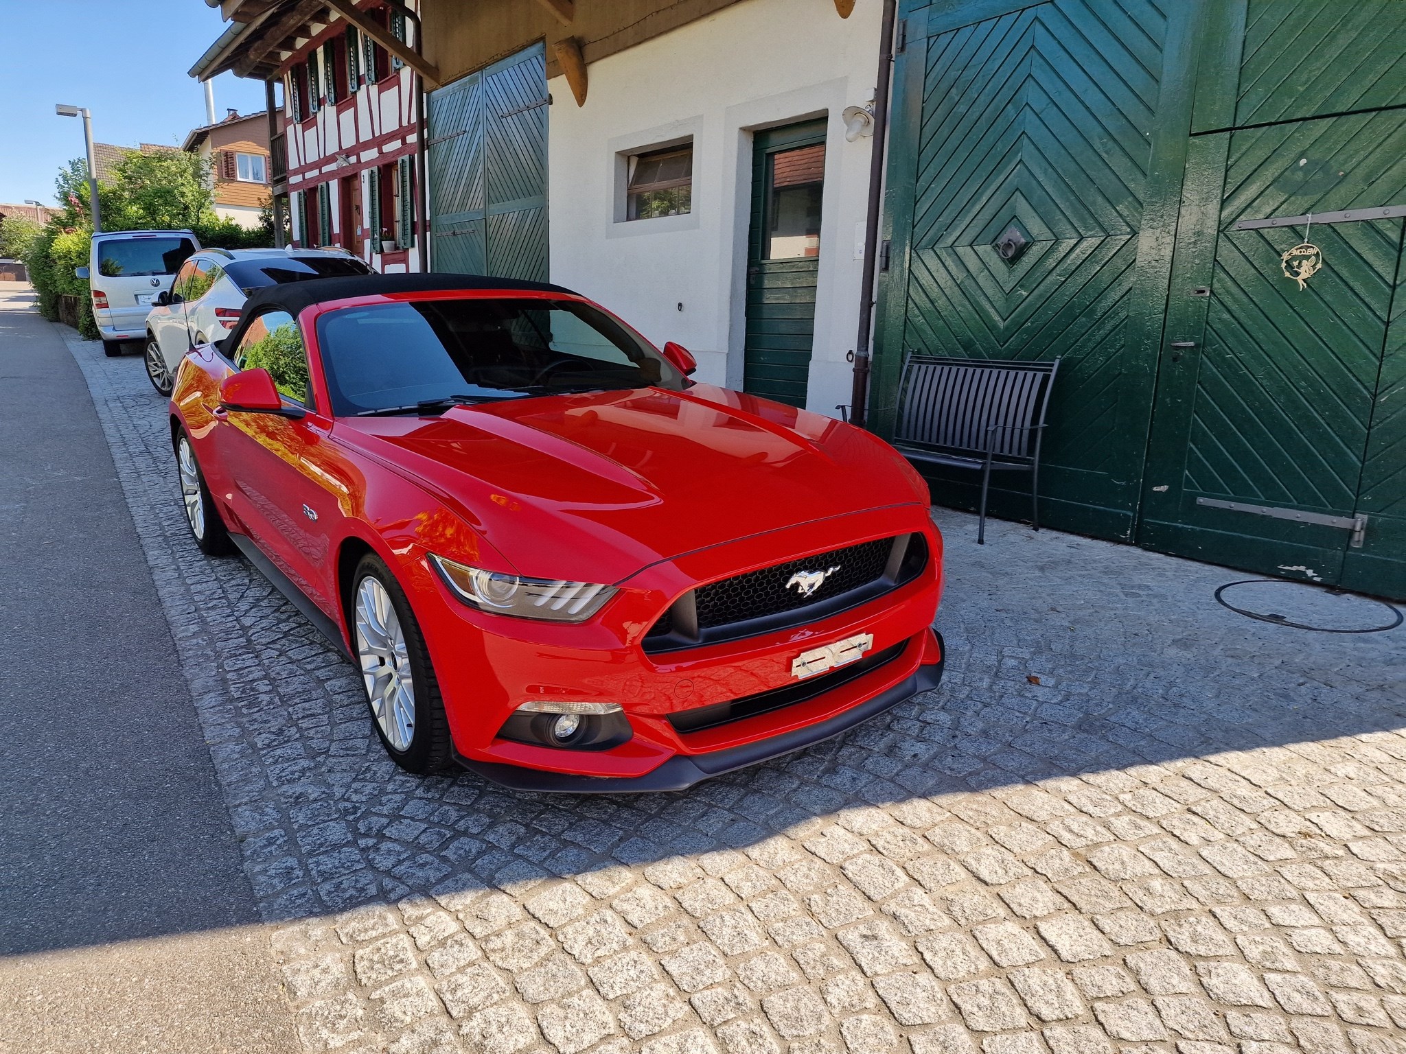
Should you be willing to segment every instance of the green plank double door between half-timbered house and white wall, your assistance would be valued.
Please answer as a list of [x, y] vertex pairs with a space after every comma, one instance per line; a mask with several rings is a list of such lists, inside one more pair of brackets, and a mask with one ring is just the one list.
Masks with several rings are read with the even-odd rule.
[[547, 280], [547, 66], [534, 45], [430, 93], [430, 267]]

